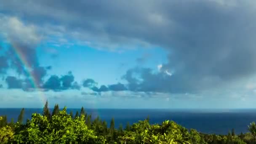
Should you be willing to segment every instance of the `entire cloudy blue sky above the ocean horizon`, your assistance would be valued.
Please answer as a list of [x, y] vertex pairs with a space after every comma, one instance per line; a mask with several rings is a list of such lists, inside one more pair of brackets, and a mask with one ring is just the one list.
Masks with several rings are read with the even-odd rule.
[[256, 108], [253, 0], [0, 3], [0, 107]]

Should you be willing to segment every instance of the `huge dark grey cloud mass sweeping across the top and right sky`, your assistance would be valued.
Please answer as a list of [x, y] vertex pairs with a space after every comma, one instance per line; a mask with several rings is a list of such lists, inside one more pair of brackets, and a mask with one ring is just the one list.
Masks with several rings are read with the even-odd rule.
[[[254, 1], [8, 0], [0, 5], [0, 11], [26, 16], [40, 27], [55, 21], [67, 35], [89, 40], [95, 47], [147, 44], [165, 48], [168, 62], [161, 72], [147, 68], [127, 71], [124, 79], [131, 91], [197, 91], [249, 78], [256, 72]], [[25, 49], [26, 53], [31, 52]], [[28, 61], [33, 57], [28, 56]]]

